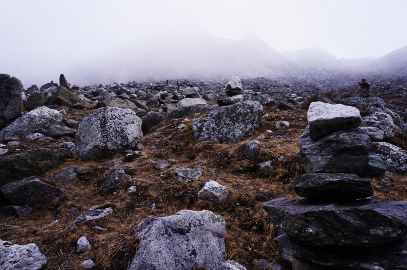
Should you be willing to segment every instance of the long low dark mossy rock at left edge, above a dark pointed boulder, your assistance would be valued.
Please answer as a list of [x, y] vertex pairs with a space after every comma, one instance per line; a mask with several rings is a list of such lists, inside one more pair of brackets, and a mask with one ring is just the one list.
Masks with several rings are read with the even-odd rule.
[[0, 186], [32, 175], [42, 175], [67, 156], [65, 149], [40, 148], [0, 157]]

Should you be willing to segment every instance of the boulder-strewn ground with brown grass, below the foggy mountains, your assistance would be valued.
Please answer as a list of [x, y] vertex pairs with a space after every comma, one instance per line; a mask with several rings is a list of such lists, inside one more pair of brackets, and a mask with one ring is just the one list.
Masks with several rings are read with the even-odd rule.
[[405, 267], [405, 80], [300, 75], [1, 74], [0, 268]]

